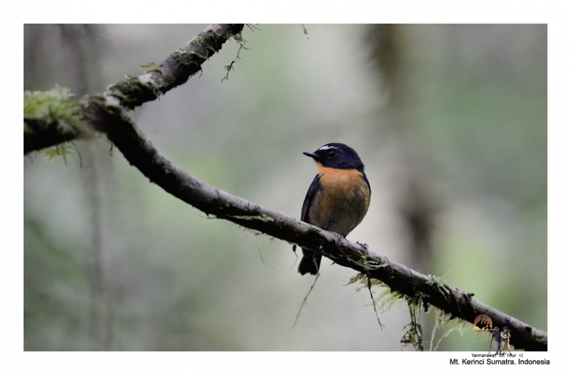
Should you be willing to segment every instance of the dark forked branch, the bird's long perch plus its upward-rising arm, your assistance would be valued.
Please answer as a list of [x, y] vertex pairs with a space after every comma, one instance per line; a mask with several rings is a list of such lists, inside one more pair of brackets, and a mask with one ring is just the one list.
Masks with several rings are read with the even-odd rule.
[[[232, 32], [239, 32], [241, 29], [242, 25], [211, 26], [201, 35], [204, 33], [210, 35], [206, 39], [213, 42], [213, 48], [220, 49], [223, 41], [228, 39]], [[189, 46], [193, 43], [194, 41], [191, 41]], [[203, 46], [200, 42], [198, 44]], [[190, 47], [187, 46], [188, 48]], [[112, 86], [104, 94], [82, 99], [81, 114], [74, 112], [72, 116], [66, 113], [66, 117], [73, 121], [81, 118], [81, 121], [88, 123], [94, 129], [104, 132], [129, 163], [139, 169], [151, 182], [208, 215], [226, 219], [291, 244], [313, 249], [340, 266], [349, 267], [382, 281], [393, 292], [421, 298], [423, 304], [438, 307], [453, 318], [473, 323], [478, 315], [487, 314], [495, 325], [510, 327], [512, 331], [510, 342], [516, 348], [528, 351], [547, 350], [547, 332], [535, 329], [502, 311], [482, 304], [473, 299], [473, 293], [453, 289], [432, 276], [425, 276], [407, 266], [390, 261], [385, 256], [375, 254], [347, 239], [341, 239], [331, 232], [217, 189], [186, 174], [162, 156], [133, 123], [126, 109], [155, 99], [158, 93], [182, 84], [191, 74], [199, 71], [200, 64], [207, 58], [206, 56], [210, 56], [209, 49], [206, 51], [200, 49], [197, 52], [194, 48], [196, 47], [181, 54], [183, 58], [174, 56], [176, 53], [171, 55], [161, 64], [160, 73], [156, 71], [131, 78]], [[202, 55], [203, 52], [206, 54]], [[186, 63], [181, 63], [181, 59]], [[200, 64], [191, 61], [199, 61]], [[122, 86], [123, 84], [126, 86]], [[133, 87], [138, 89], [129, 89]], [[57, 121], [54, 126], [56, 125]], [[26, 144], [24, 153], [26, 153]]]

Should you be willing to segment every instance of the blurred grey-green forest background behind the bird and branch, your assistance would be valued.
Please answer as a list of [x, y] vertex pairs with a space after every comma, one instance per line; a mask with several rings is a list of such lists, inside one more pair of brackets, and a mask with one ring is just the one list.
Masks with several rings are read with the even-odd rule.
[[[206, 26], [25, 25], [24, 90], [103, 91]], [[301, 153], [352, 146], [373, 194], [348, 239], [547, 331], [547, 26], [305, 27], [245, 27], [228, 81], [233, 40], [133, 118], [189, 174], [295, 217]], [[408, 306], [381, 330], [327, 260], [290, 329], [313, 282], [290, 245], [206, 218], [104, 139], [75, 143], [81, 161], [24, 158], [25, 350], [413, 350]], [[449, 333], [438, 350], [488, 349]]]

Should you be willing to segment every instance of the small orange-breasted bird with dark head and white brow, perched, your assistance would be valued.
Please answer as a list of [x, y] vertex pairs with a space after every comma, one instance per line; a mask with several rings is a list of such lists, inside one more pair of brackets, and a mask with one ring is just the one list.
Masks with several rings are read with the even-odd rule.
[[[301, 221], [347, 236], [369, 209], [370, 184], [363, 161], [355, 150], [339, 143], [303, 154], [315, 160], [317, 174], [305, 194]], [[309, 249], [302, 251], [298, 272], [316, 275], [321, 255]]]

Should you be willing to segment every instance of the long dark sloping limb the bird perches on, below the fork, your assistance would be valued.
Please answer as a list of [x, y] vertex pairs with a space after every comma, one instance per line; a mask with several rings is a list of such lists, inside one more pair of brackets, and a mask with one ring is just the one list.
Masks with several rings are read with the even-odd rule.
[[442, 309], [453, 318], [470, 323], [480, 314], [487, 314], [497, 326], [509, 326], [511, 343], [529, 351], [547, 350], [547, 332], [502, 313], [473, 299], [472, 293], [453, 289], [433, 277], [390, 261], [347, 239], [298, 221], [280, 212], [233, 196], [186, 174], [161, 155], [129, 119], [121, 114], [94, 107], [106, 126], [106, 134], [125, 158], [154, 184], [208, 215], [226, 219], [249, 229], [309, 249], [315, 249], [340, 266], [349, 267], [373, 279], [383, 281], [392, 291], [420, 296], [423, 302]]

